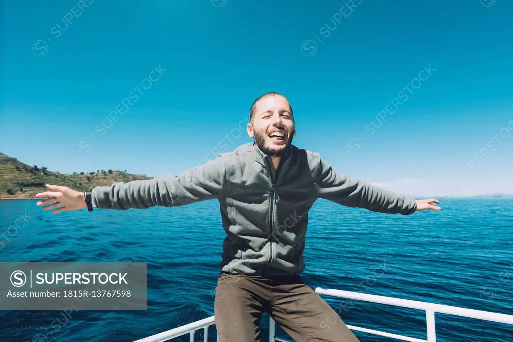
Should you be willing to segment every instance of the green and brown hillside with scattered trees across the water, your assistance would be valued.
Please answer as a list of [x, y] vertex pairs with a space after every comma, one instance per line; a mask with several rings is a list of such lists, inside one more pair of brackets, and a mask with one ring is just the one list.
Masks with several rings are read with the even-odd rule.
[[72, 175], [48, 171], [44, 166], [29, 166], [0, 153], [0, 199], [29, 199], [35, 194], [49, 191], [45, 184], [67, 186], [76, 191], [90, 190], [95, 186], [147, 180], [152, 177], [131, 175], [123, 171], [96, 170]]

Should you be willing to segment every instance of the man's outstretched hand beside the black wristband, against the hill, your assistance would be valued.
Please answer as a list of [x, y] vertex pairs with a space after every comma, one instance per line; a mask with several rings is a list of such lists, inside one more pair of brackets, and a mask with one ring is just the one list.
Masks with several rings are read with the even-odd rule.
[[37, 202], [36, 205], [40, 207], [47, 204], [54, 204], [44, 207], [43, 210], [52, 210], [51, 213], [60, 213], [63, 211], [72, 211], [87, 208], [84, 193], [72, 190], [66, 186], [50, 184], [46, 184], [45, 186], [51, 191], [36, 194], [35, 197], [48, 199], [42, 202]]

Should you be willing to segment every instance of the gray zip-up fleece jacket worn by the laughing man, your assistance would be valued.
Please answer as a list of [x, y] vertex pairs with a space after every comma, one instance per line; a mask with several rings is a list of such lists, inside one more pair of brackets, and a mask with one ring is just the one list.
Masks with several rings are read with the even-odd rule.
[[95, 187], [92, 201], [126, 210], [216, 199], [227, 234], [221, 270], [262, 276], [303, 272], [308, 210], [317, 199], [388, 214], [417, 210], [414, 199], [338, 173], [319, 154], [292, 145], [284, 158], [277, 177], [269, 156], [248, 143], [180, 176]]

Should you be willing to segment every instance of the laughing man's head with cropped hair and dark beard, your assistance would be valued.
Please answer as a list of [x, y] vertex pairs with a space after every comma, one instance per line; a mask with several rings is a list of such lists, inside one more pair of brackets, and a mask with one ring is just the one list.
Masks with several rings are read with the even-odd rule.
[[260, 151], [266, 155], [282, 156], [295, 134], [287, 99], [281, 95], [264, 96], [255, 103], [252, 114], [248, 123], [249, 137], [255, 139]]

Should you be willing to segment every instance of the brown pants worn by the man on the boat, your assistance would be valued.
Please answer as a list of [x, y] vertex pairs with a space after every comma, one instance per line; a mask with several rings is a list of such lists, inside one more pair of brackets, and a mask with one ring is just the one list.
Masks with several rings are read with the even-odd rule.
[[299, 275], [221, 273], [214, 304], [219, 342], [260, 342], [263, 312], [297, 342], [359, 342]]

